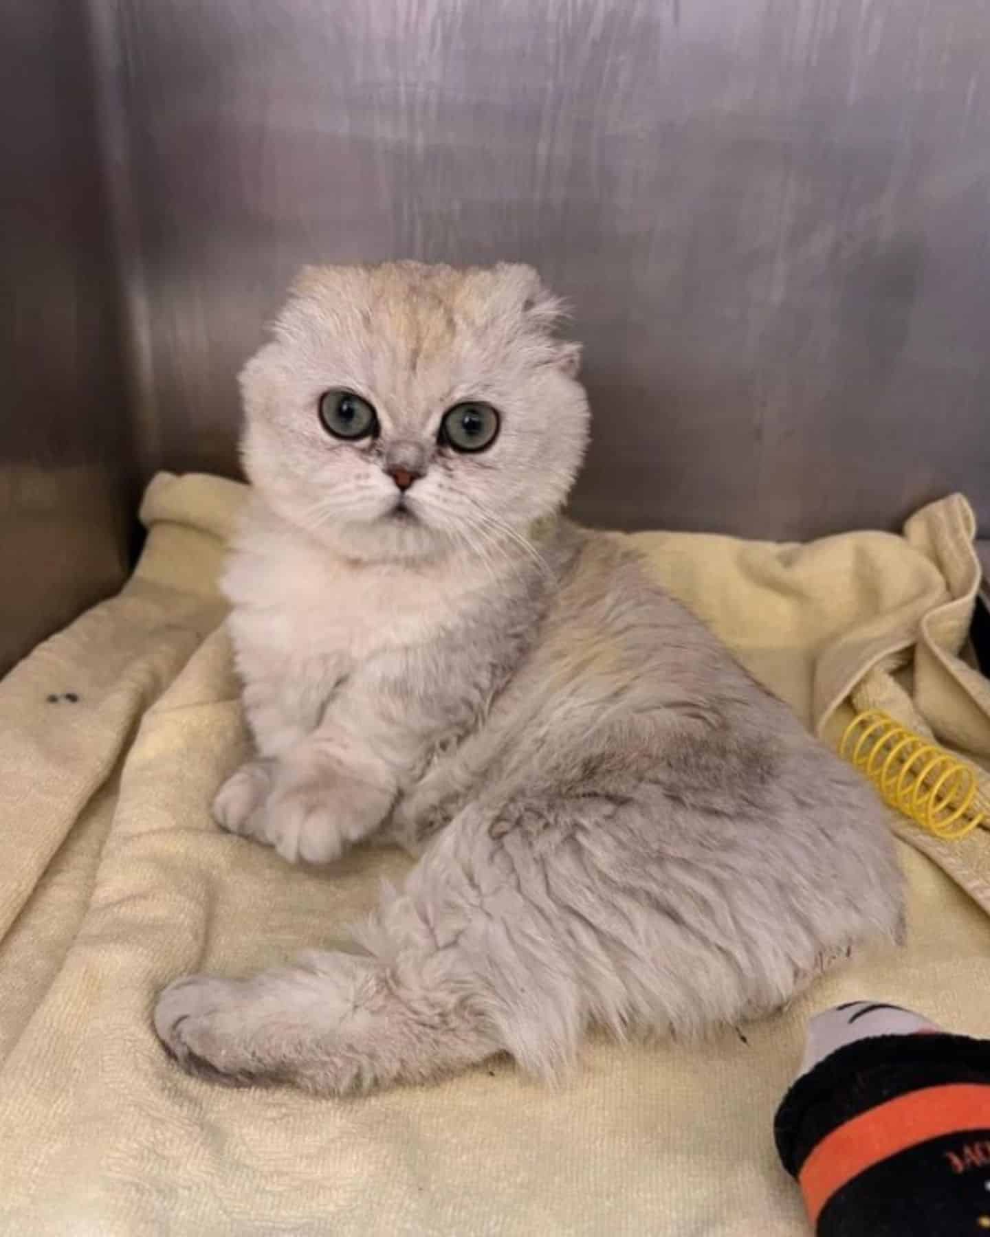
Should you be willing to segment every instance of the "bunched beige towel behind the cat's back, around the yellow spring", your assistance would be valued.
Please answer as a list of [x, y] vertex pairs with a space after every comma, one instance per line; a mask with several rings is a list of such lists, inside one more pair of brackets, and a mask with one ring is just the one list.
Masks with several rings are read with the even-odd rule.
[[[854, 711], [882, 709], [965, 756], [990, 821], [990, 682], [963, 659], [981, 564], [962, 495], [918, 511], [903, 537], [808, 546], [640, 533], [657, 578], [833, 747]], [[851, 708], [850, 708], [851, 701]], [[955, 842], [895, 818], [990, 914], [990, 837]]]

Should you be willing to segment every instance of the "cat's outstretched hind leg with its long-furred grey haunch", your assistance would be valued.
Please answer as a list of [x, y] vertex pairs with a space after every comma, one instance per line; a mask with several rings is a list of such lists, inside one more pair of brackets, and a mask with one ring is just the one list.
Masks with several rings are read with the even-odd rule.
[[193, 1071], [343, 1094], [500, 1051], [553, 1077], [592, 1023], [620, 1037], [733, 1025], [890, 918], [835, 892], [822, 839], [823, 876], [796, 901], [778, 833], [762, 833], [655, 788], [471, 804], [384, 898], [364, 952], [181, 980], [156, 1029]]

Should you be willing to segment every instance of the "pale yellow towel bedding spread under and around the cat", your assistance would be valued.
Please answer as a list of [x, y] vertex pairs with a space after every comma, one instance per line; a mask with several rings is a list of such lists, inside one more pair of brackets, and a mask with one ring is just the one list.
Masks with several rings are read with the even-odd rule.
[[[163, 983], [332, 943], [407, 862], [366, 851], [290, 868], [209, 820], [244, 748], [214, 588], [243, 495], [158, 477], [121, 596], [0, 683], [0, 1232], [806, 1232], [771, 1121], [808, 1016], [869, 996], [990, 1034], [990, 919], [907, 846], [908, 949], [829, 976], [745, 1028], [747, 1043], [595, 1043], [557, 1091], [496, 1063], [343, 1103], [210, 1087], [165, 1058], [148, 1022]], [[639, 541], [755, 673], [827, 726], [891, 633], [900, 648], [934, 632], [912, 699], [937, 699], [937, 727], [976, 750], [973, 698], [953, 704], [959, 612], [948, 643], [938, 618], [964, 581], [934, 538], [911, 537]], [[79, 700], [47, 701], [67, 691]]]

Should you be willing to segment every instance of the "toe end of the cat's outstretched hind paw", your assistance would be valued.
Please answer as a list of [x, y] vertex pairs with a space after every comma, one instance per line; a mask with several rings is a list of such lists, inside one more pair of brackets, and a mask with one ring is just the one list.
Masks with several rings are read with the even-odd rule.
[[250, 1059], [239, 1050], [243, 980], [191, 975], [176, 980], [155, 1006], [155, 1032], [188, 1072], [215, 1082], [254, 1081]]

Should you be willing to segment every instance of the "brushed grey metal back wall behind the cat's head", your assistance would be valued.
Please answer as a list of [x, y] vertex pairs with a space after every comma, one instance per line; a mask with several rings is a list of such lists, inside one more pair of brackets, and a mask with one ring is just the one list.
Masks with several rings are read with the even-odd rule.
[[[104, 0], [93, 2], [105, 9]], [[523, 257], [598, 523], [990, 529], [986, 0], [118, 0], [144, 447], [235, 468], [304, 261]]]

